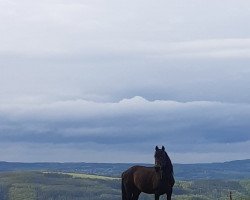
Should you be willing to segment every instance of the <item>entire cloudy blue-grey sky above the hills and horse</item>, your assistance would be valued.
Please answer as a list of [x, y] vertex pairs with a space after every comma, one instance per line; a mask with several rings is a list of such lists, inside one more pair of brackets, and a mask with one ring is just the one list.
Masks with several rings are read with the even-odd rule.
[[0, 0], [0, 160], [250, 159], [248, 0]]

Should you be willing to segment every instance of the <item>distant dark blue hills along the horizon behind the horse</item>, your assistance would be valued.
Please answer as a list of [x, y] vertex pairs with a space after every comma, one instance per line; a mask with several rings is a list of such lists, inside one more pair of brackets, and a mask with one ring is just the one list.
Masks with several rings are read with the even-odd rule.
[[[77, 172], [120, 177], [121, 173], [135, 165], [125, 163], [18, 163], [0, 162], [0, 172], [6, 171], [55, 171]], [[147, 165], [149, 164], [140, 164]], [[152, 165], [151, 165], [152, 166]], [[174, 164], [177, 180], [197, 179], [249, 179], [250, 159], [224, 163]]]

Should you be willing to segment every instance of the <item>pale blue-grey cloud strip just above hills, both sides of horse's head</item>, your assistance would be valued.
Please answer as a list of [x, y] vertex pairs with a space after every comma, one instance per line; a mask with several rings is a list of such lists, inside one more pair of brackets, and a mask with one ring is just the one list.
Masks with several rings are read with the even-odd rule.
[[[101, 144], [37, 144], [37, 143], [0, 143], [1, 160], [15, 162], [102, 162], [102, 163], [154, 163], [154, 147], [151, 144], [121, 145]], [[207, 163], [249, 158], [249, 141], [236, 144], [203, 146], [202, 152], [169, 151], [174, 163]], [[122, 147], [122, 148], [120, 148]], [[218, 148], [221, 149], [218, 151]], [[225, 151], [227, 149], [228, 151]], [[242, 149], [245, 149], [242, 151]], [[198, 149], [200, 150], [200, 149]]]

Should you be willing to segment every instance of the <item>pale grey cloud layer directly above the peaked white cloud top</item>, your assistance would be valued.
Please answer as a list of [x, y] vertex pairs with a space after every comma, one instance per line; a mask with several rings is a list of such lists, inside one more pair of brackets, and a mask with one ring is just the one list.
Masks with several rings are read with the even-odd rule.
[[249, 60], [128, 60], [93, 61], [86, 66], [48, 61], [37, 66], [35, 60], [26, 60], [21, 68], [5, 62], [0, 101], [26, 95], [44, 96], [45, 101], [80, 98], [112, 102], [139, 95], [149, 100], [249, 103]]

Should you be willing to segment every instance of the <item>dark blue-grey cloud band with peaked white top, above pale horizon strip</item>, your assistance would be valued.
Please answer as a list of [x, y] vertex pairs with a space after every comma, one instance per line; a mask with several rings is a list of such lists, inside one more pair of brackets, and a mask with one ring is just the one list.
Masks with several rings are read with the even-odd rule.
[[[237, 146], [250, 141], [248, 104], [148, 101], [134, 97], [114, 103], [79, 99], [1, 105], [0, 111], [0, 138], [8, 143], [78, 144], [86, 151], [89, 144], [119, 146], [121, 151], [134, 146], [136, 152], [164, 143], [169, 151], [179, 154], [213, 151], [214, 145]], [[238, 152], [245, 151], [238, 147]]]

